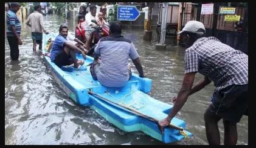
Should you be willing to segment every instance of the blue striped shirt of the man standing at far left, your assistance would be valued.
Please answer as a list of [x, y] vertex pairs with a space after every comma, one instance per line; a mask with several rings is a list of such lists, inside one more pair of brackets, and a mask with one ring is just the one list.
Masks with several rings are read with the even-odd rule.
[[12, 10], [8, 10], [7, 17], [6, 17], [6, 23], [7, 23], [7, 36], [14, 36], [11, 25], [14, 25], [15, 30], [18, 34], [21, 34], [21, 22], [19, 21], [18, 16], [15, 12]]

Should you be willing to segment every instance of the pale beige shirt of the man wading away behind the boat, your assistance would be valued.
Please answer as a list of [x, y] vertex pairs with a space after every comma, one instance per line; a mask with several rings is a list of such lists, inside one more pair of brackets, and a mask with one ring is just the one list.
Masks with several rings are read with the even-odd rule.
[[32, 33], [43, 33], [44, 28], [44, 19], [43, 14], [38, 11], [34, 11], [33, 13], [29, 14], [29, 18], [27, 18], [26, 23], [29, 22], [31, 25], [31, 32]]

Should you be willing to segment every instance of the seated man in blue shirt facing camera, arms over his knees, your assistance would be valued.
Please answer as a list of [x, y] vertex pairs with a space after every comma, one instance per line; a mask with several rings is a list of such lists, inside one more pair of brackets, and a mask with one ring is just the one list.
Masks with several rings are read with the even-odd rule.
[[75, 46], [70, 40], [67, 40], [68, 28], [66, 25], [60, 25], [58, 36], [54, 40], [52, 50], [50, 50], [50, 60], [58, 67], [74, 64], [74, 68], [80, 68], [83, 60], [77, 60], [75, 51], [83, 54], [86, 58], [85, 51]]

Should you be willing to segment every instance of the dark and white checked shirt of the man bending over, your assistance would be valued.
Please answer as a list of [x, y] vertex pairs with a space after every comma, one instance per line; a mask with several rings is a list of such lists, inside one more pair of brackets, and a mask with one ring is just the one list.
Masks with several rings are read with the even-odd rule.
[[248, 56], [215, 37], [202, 37], [185, 50], [185, 74], [199, 72], [209, 77], [215, 91], [248, 83]]

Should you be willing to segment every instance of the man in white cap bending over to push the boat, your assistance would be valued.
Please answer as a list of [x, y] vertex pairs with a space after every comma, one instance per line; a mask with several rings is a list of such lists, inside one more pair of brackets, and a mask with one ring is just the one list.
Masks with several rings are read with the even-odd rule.
[[[222, 118], [224, 144], [236, 144], [237, 123], [243, 115], [248, 115], [248, 56], [215, 37], [204, 37], [205, 33], [204, 25], [198, 21], [187, 22], [178, 33], [187, 48], [185, 76], [177, 97], [172, 100], [173, 109], [159, 121], [159, 127], [164, 132], [189, 95], [213, 81], [216, 88], [212, 103], [204, 113], [207, 140], [209, 144], [220, 144], [218, 121]], [[204, 77], [193, 86], [196, 72]]]

